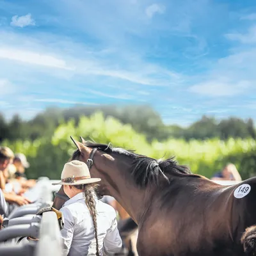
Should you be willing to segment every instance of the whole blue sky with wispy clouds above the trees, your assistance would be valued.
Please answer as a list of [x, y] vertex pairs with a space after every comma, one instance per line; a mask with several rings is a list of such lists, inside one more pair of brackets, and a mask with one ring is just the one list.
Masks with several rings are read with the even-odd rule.
[[256, 119], [256, 3], [0, 0], [0, 110], [151, 104], [166, 124]]

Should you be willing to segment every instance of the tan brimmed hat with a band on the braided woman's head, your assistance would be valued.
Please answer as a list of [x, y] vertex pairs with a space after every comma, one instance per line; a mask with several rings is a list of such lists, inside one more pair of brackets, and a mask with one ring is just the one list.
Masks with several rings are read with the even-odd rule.
[[91, 178], [86, 163], [73, 160], [64, 165], [61, 173], [61, 181], [52, 185], [81, 185], [99, 182], [99, 178]]

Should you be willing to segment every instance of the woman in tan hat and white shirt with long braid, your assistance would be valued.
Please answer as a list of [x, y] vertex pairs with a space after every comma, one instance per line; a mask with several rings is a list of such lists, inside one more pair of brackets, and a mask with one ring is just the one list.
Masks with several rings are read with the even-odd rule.
[[64, 192], [70, 198], [60, 211], [64, 217], [61, 230], [63, 255], [115, 255], [122, 250], [116, 212], [101, 202], [95, 193], [99, 178], [92, 178], [84, 162], [73, 160], [61, 173]]

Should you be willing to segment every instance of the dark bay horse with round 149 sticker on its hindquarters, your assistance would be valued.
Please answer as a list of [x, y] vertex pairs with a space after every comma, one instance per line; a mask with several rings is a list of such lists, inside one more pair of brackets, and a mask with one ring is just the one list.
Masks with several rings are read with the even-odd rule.
[[138, 225], [139, 255], [256, 255], [255, 178], [223, 186], [173, 158], [73, 141], [72, 159], [87, 163], [92, 177], [102, 179], [100, 193], [116, 198]]

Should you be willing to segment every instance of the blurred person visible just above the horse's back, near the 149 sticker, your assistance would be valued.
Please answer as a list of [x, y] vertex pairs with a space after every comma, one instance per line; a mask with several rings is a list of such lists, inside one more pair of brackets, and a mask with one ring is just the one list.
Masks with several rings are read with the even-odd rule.
[[237, 168], [234, 164], [229, 163], [223, 168], [221, 172], [214, 174], [211, 180], [236, 180], [241, 181], [242, 178], [237, 171]]

